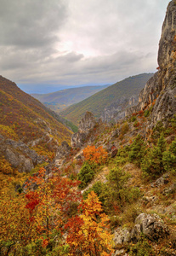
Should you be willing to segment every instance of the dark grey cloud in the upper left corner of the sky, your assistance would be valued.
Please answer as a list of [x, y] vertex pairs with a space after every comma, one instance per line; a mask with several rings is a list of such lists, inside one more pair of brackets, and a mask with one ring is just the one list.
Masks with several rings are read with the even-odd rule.
[[0, 44], [26, 48], [52, 44], [65, 17], [62, 0], [1, 0]]

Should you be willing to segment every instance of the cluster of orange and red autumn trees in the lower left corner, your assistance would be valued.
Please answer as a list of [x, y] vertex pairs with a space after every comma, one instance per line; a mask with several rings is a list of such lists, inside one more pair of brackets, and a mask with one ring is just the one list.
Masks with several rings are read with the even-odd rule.
[[41, 168], [37, 175], [29, 178], [26, 193], [3, 192], [0, 196], [0, 254], [20, 255], [21, 248], [31, 244], [37, 249], [40, 245], [52, 250], [54, 236], [60, 236], [62, 225], [70, 217], [72, 203], [82, 198], [77, 191], [78, 183], [59, 174], [46, 177], [45, 169]]

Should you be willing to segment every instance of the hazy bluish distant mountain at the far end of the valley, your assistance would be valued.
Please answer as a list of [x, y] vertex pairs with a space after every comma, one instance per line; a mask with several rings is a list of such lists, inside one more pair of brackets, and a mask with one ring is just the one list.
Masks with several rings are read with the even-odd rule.
[[94, 95], [99, 90], [103, 90], [108, 85], [97, 86], [83, 86], [78, 88], [70, 88], [65, 90], [58, 90], [48, 94], [31, 94], [45, 106], [51, 108], [56, 113], [60, 113], [63, 108], [67, 108], [72, 104], [81, 102], [82, 100]]

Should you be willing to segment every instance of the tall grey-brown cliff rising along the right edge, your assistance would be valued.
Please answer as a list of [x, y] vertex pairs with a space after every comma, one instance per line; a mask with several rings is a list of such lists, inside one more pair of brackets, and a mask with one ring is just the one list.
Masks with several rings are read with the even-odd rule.
[[129, 108], [126, 115], [153, 106], [150, 115], [152, 128], [157, 121], [167, 125], [176, 113], [176, 3], [171, 1], [162, 25], [162, 37], [158, 50], [158, 72], [145, 84], [139, 94], [139, 104]]

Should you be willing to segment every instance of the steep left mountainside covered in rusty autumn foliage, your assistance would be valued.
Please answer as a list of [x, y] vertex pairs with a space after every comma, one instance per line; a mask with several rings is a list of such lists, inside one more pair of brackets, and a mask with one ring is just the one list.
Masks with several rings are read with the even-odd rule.
[[[9, 79], [0, 76], [0, 160], [20, 172], [30, 172], [45, 158], [54, 157], [71, 131], [60, 117]], [[7, 162], [7, 163], [8, 163]]]

